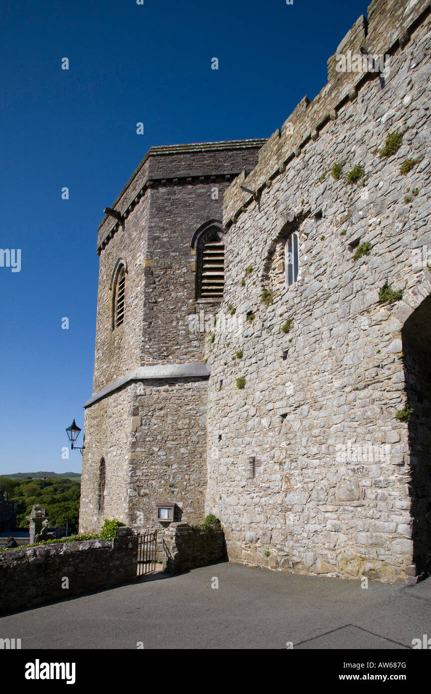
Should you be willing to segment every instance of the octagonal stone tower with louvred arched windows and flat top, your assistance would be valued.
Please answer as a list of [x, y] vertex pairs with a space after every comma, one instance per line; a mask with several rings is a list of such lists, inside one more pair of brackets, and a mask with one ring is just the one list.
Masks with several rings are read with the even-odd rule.
[[[205, 333], [224, 283], [222, 200], [265, 140], [153, 147], [98, 228], [93, 396], [80, 530], [198, 523], [206, 488]], [[199, 321], [198, 321], [199, 322]]]

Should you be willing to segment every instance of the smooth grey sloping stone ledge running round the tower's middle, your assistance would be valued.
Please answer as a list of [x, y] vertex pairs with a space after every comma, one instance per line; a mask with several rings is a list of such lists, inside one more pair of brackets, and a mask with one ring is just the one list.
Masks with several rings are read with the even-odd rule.
[[109, 386], [98, 391], [94, 396], [87, 400], [83, 407], [93, 405], [101, 398], [109, 395], [114, 390], [123, 387], [131, 381], [154, 380], [167, 378], [209, 378], [210, 366], [208, 362], [196, 362], [195, 364], [155, 364], [153, 366], [139, 366], [138, 369], [130, 371], [123, 378], [109, 384]]

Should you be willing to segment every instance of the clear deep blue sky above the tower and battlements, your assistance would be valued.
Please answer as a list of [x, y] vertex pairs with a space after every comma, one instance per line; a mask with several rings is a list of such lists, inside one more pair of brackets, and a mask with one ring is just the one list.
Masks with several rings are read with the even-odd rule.
[[322, 89], [327, 58], [366, 11], [1, 0], [0, 247], [21, 249], [21, 271], [0, 266], [0, 474], [80, 471], [62, 447], [91, 396], [96, 230], [149, 147], [269, 137]]

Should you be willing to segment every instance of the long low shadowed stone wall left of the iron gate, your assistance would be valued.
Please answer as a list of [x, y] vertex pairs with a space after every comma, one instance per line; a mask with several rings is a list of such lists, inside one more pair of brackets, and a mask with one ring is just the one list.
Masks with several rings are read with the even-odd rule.
[[137, 578], [138, 537], [0, 551], [0, 613], [109, 588]]

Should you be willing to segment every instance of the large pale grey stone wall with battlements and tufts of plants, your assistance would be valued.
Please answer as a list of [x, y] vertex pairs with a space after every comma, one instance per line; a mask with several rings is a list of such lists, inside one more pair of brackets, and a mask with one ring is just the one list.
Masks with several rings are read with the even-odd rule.
[[[208, 351], [206, 512], [220, 518], [234, 561], [411, 582], [421, 573], [414, 523], [428, 527], [430, 565], [430, 468], [423, 456], [414, 468], [409, 423], [396, 413], [409, 398], [403, 325], [431, 291], [426, 261], [416, 262], [431, 243], [430, 3], [373, 2], [339, 51], [361, 45], [390, 53], [383, 86], [378, 74], [337, 73], [333, 56], [328, 85], [261, 149], [245, 183], [258, 199], [240, 189], [245, 174], [225, 194], [220, 314], [234, 307], [247, 328], [216, 330]], [[380, 156], [397, 131], [401, 148]], [[416, 163], [403, 175], [407, 159]], [[346, 181], [355, 165], [361, 185]], [[269, 261], [295, 230], [299, 280], [273, 285], [266, 306]], [[386, 282], [401, 301], [379, 303]], [[426, 428], [425, 442], [429, 417]]]

